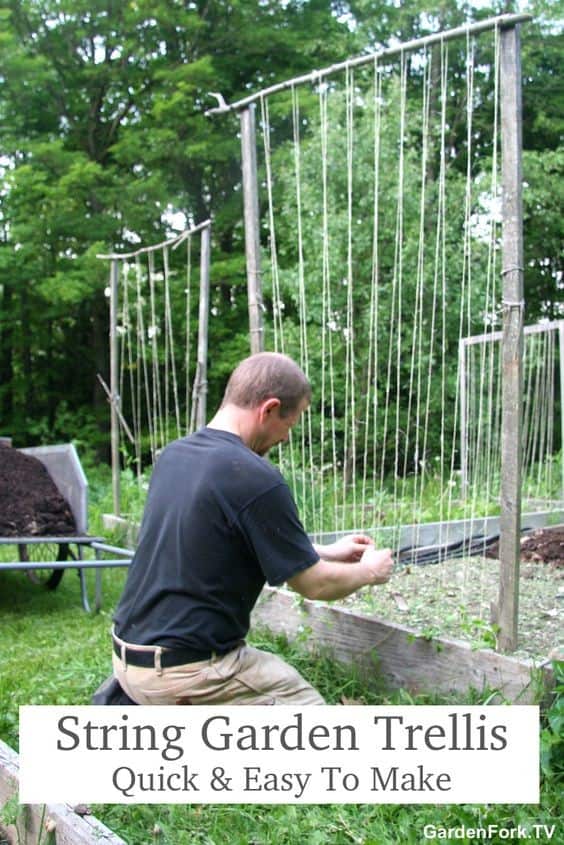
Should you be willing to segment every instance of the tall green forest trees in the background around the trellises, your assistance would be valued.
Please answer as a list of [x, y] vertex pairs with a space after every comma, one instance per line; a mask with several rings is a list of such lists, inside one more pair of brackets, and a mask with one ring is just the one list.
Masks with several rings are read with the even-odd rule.
[[179, 219], [213, 219], [208, 407], [219, 401], [249, 335], [238, 121], [205, 116], [210, 91], [232, 102], [515, 11], [534, 16], [522, 36], [532, 323], [563, 316], [562, 0], [0, 2], [0, 433], [106, 457], [108, 264], [96, 255], [157, 243]]

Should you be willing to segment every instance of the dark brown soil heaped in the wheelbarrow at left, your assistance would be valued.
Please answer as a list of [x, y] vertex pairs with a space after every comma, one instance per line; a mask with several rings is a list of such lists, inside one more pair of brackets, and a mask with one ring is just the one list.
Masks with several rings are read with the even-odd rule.
[[0, 446], [0, 537], [76, 534], [74, 517], [37, 458]]

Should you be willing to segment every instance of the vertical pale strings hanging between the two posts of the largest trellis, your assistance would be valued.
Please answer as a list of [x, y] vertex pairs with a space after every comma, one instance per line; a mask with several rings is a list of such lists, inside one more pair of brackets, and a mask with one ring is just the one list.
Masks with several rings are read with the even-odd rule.
[[458, 342], [500, 326], [498, 44], [291, 86], [278, 148], [285, 95], [261, 97], [267, 345], [319, 397], [287, 459], [313, 533], [419, 523], [434, 487], [438, 522], [478, 507], [460, 490]]

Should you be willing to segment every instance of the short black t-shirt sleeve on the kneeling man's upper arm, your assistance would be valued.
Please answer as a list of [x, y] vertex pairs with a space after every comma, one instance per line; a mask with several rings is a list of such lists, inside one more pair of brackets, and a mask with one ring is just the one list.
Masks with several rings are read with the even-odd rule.
[[272, 587], [319, 560], [285, 483], [247, 505], [239, 514], [239, 525]]

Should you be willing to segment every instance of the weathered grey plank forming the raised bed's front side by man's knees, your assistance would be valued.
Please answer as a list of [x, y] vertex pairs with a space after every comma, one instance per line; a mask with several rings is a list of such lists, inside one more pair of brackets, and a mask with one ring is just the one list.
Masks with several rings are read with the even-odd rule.
[[538, 692], [539, 665], [494, 651], [473, 651], [467, 643], [417, 637], [412, 630], [377, 617], [266, 588], [253, 623], [294, 639], [311, 628], [306, 648], [326, 648], [337, 661], [354, 663], [366, 681], [418, 692], [495, 689], [510, 701], [527, 703]]

